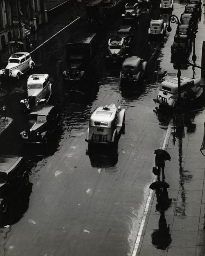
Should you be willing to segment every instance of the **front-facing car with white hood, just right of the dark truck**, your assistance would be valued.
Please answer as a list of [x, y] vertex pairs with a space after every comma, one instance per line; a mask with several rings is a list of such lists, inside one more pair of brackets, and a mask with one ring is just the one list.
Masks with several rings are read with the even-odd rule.
[[110, 38], [108, 40], [108, 56], [107, 60], [118, 62], [124, 59], [125, 47], [124, 39], [121, 37]]

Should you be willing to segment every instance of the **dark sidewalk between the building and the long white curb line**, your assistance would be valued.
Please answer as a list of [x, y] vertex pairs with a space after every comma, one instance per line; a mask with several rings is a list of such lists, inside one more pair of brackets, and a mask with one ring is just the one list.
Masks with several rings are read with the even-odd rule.
[[[52, 1], [53, 2], [53, 1]], [[58, 2], [58, 1], [55, 1]], [[63, 1], [65, 2], [65, 1]], [[85, 2], [82, 2], [80, 4], [80, 9], [78, 16], [81, 16], [86, 12], [85, 10]], [[70, 5], [69, 8], [66, 8], [64, 12], [60, 12], [57, 14], [53, 21], [41, 25], [37, 30], [36, 30], [36, 35], [30, 35], [31, 43], [33, 45], [32, 51], [41, 45], [43, 42], [48, 40], [50, 37], [55, 35], [59, 30], [67, 26], [69, 23], [74, 21], [77, 18], [77, 6], [76, 4]], [[22, 40], [24, 42], [24, 49], [25, 49], [25, 39]], [[15, 48], [15, 47], [14, 47]], [[26, 50], [25, 50], [26, 51]], [[2, 56], [2, 66], [0, 68], [4, 68], [7, 65], [8, 58], [9, 58], [9, 51], [5, 51], [1, 53]]]

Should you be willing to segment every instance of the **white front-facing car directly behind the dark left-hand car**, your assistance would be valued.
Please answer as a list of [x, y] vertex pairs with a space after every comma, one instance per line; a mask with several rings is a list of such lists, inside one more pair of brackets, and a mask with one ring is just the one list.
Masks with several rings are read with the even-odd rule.
[[32, 109], [36, 105], [47, 104], [52, 93], [52, 84], [48, 74], [32, 74], [27, 80], [26, 99], [21, 100], [22, 111]]

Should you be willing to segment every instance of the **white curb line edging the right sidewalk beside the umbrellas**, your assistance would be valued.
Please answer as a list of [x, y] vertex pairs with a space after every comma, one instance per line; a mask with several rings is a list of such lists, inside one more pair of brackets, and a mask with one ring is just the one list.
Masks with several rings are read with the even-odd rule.
[[[164, 138], [164, 143], [163, 143], [162, 149], [166, 148], [166, 143], [167, 143], [167, 140], [169, 139], [170, 135], [171, 135], [171, 125], [169, 124], [169, 126], [167, 128], [167, 131], [166, 131], [165, 138]], [[155, 181], [156, 181], [156, 178], [154, 177], [152, 182], [155, 182]], [[140, 224], [140, 227], [139, 227], [139, 232], [137, 234], [137, 239], [136, 239], [136, 242], [135, 242], [135, 245], [134, 245], [134, 250], [132, 252], [132, 256], [136, 256], [136, 254], [137, 254], [137, 250], [138, 250], [138, 247], [139, 247], [139, 242], [141, 240], [141, 236], [142, 236], [141, 234], [142, 234], [142, 231], [143, 231], [143, 228], [144, 228], [144, 224], [145, 224], [146, 216], [147, 216], [147, 213], [148, 213], [148, 209], [149, 209], [149, 205], [150, 205], [150, 200], [152, 198], [152, 194], [153, 194], [153, 190], [150, 189], [149, 195], [148, 195], [148, 198], [147, 198], [147, 202], [146, 202], [146, 206], [145, 206], [145, 209], [144, 209], [144, 214], [142, 216], [141, 224]]]

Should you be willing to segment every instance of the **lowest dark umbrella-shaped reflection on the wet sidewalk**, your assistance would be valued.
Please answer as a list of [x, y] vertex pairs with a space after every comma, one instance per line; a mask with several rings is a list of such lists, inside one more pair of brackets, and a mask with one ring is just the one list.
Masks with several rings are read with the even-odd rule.
[[169, 224], [167, 225], [166, 223], [164, 211], [160, 212], [158, 226], [159, 228], [154, 230], [151, 235], [151, 242], [157, 249], [165, 250], [171, 244], [172, 239]]

